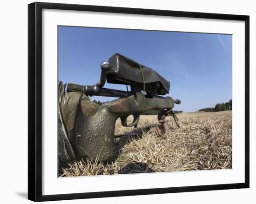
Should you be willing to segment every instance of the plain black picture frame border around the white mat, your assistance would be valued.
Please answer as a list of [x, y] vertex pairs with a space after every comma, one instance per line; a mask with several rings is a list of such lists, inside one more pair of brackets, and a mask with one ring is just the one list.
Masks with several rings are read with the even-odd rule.
[[[84, 192], [42, 195], [42, 9], [129, 13], [155, 16], [175, 16], [245, 22], [245, 182], [126, 191]], [[217, 13], [197, 13], [141, 8], [103, 7], [35, 2], [28, 5], [28, 199], [52, 201], [96, 197], [133, 196], [188, 191], [210, 191], [249, 188], [249, 16]]]

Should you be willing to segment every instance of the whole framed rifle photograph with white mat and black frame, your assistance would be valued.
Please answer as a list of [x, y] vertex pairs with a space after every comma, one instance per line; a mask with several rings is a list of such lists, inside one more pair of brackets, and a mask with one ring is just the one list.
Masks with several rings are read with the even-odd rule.
[[249, 188], [249, 16], [28, 5], [28, 199]]

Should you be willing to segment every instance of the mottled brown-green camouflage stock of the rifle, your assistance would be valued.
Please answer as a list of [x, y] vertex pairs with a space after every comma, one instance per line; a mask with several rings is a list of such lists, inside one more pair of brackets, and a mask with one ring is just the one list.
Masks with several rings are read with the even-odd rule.
[[[92, 117], [84, 116], [80, 104], [75, 121], [75, 144], [79, 156], [93, 160], [98, 157], [102, 161], [114, 159], [115, 122], [118, 118], [126, 120], [129, 115], [139, 115], [143, 111], [174, 107], [174, 100], [170, 97], [143, 97], [142, 93], [138, 93], [105, 103]], [[138, 118], [131, 126], [137, 122]]]

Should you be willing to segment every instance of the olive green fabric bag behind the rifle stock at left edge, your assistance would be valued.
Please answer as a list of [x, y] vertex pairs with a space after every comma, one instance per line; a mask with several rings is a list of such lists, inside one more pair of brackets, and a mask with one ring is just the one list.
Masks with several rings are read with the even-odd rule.
[[81, 99], [81, 109], [85, 117], [93, 116], [99, 107], [83, 93], [66, 92], [66, 85], [61, 81], [58, 82], [58, 160], [60, 164], [66, 164], [76, 158], [74, 121], [79, 100]]

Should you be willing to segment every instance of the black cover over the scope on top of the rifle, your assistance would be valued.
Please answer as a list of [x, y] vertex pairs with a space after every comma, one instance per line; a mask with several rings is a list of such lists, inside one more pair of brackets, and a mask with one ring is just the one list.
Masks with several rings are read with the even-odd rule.
[[112, 67], [106, 74], [108, 83], [136, 86], [143, 90], [142, 69], [146, 92], [158, 95], [169, 93], [170, 82], [153, 69], [143, 65], [140, 69], [139, 63], [118, 53], [109, 58], [109, 63]]

